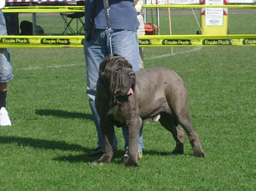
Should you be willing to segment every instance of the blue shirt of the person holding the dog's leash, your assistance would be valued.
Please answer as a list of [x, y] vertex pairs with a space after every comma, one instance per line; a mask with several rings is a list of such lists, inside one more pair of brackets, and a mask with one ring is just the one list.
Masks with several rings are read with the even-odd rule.
[[[106, 29], [107, 22], [103, 0], [85, 1], [84, 29], [91, 29], [93, 12], [95, 28]], [[111, 29], [136, 31], [140, 25], [133, 0], [109, 0], [109, 17]]]

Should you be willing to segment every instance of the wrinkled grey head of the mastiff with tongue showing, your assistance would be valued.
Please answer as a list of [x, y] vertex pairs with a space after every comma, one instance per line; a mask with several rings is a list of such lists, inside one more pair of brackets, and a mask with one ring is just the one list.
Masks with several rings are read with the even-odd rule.
[[108, 88], [114, 104], [125, 101], [134, 94], [135, 72], [125, 57], [107, 56], [100, 64], [99, 79]]

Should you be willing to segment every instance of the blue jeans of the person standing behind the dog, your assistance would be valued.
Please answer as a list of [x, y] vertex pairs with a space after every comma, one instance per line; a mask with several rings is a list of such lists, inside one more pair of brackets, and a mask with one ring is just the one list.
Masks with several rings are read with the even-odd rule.
[[[85, 36], [88, 35], [88, 30]], [[139, 45], [137, 33], [127, 30], [111, 29], [111, 45], [113, 54], [119, 54], [133, 65], [133, 70], [139, 70]], [[87, 69], [87, 95], [89, 96], [89, 105], [93, 113], [94, 123], [98, 134], [98, 146], [104, 147], [104, 139], [99, 127], [99, 116], [97, 114], [94, 100], [96, 93], [96, 83], [99, 76], [99, 65], [101, 61], [110, 53], [108, 41], [108, 30], [94, 29], [90, 41], [84, 41], [84, 55]], [[128, 128], [122, 127], [122, 133], [125, 139], [125, 150], [128, 149]], [[138, 150], [142, 153], [142, 127], [139, 135]], [[114, 133], [114, 149], [117, 149], [117, 140]]]

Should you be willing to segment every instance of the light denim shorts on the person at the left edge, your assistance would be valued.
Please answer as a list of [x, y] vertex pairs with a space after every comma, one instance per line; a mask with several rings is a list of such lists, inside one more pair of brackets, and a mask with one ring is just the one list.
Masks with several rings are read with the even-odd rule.
[[[0, 10], [0, 35], [7, 35], [5, 19]], [[7, 48], [0, 48], [0, 83], [13, 79], [13, 69], [10, 62], [10, 53]]]

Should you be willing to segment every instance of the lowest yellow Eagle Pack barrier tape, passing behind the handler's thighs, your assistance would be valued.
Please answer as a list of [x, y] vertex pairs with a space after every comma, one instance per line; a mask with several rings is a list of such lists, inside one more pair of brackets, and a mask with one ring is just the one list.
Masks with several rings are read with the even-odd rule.
[[[256, 35], [143, 35], [141, 47], [256, 45]], [[0, 48], [83, 47], [84, 36], [0, 36]]]

